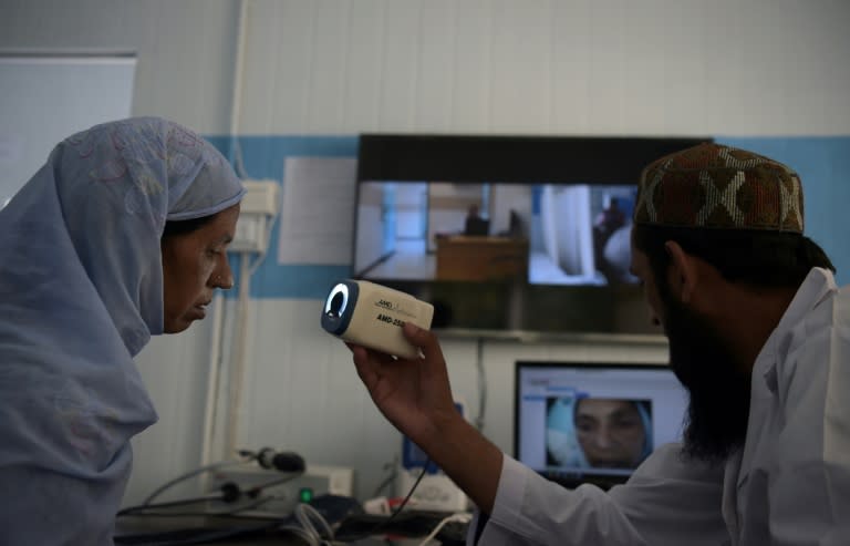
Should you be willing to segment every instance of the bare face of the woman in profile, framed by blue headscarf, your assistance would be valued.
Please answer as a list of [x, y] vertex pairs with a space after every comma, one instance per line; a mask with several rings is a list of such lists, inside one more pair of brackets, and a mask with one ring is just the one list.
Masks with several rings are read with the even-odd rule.
[[165, 333], [182, 332], [203, 319], [212, 291], [234, 286], [226, 250], [238, 218], [237, 204], [194, 231], [163, 237]]

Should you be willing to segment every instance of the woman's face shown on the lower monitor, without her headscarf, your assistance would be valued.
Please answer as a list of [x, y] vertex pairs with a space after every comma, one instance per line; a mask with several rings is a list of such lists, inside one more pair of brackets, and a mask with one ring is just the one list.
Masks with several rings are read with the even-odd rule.
[[640, 462], [646, 433], [629, 400], [580, 400], [576, 431], [591, 466], [635, 467]]

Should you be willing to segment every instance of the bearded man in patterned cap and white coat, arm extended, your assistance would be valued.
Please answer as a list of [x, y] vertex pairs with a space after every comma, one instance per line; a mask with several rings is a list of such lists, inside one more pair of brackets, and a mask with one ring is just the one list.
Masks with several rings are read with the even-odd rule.
[[787, 166], [703, 144], [642, 173], [632, 274], [691, 395], [684, 443], [624, 485], [566, 490], [454, 409], [439, 343], [350, 346], [383, 414], [477, 506], [469, 544], [821, 545], [850, 540], [850, 288], [802, 235]]

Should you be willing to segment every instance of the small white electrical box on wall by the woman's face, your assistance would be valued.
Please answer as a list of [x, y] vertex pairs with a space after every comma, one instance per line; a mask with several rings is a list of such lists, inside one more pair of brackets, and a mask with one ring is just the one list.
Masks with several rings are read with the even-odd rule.
[[280, 208], [280, 184], [276, 181], [243, 181], [243, 184], [246, 194], [236, 224], [236, 237], [229, 250], [265, 254], [269, 245], [271, 219]]

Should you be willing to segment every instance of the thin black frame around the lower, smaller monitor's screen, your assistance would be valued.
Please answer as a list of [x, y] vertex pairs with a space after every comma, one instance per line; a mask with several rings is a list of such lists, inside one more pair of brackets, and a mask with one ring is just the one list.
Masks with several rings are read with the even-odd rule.
[[[514, 422], [512, 433], [514, 441], [511, 442], [512, 452], [511, 456], [519, 461], [519, 396], [520, 396], [520, 382], [519, 375], [524, 369], [529, 368], [557, 368], [557, 369], [605, 369], [605, 370], [634, 370], [635, 368], [642, 370], [666, 370], [673, 373], [670, 365], [659, 362], [615, 362], [610, 360], [591, 362], [587, 360], [570, 361], [570, 360], [516, 360], [514, 361]], [[657, 446], [656, 446], [657, 447]], [[561, 478], [549, 476], [545, 473], [538, 472], [541, 476], [549, 481], [563, 485], [564, 487], [574, 488], [581, 484], [593, 484], [603, 490], [608, 490], [614, 485], [622, 484], [629, 476], [619, 476], [611, 474], [598, 474], [593, 472], [576, 473]]]

